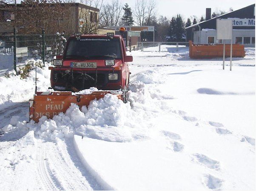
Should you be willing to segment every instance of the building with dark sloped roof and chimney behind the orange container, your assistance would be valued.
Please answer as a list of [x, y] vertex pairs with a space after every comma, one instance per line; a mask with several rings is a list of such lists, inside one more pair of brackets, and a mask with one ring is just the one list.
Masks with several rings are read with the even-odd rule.
[[[222, 44], [216, 39], [216, 19], [232, 19], [233, 43], [244, 44], [245, 47], [255, 47], [255, 4], [236, 11], [222, 14], [210, 19], [210, 9], [206, 10], [206, 21], [191, 25], [186, 30], [186, 41], [194, 44]], [[230, 44], [230, 40], [225, 40]]]

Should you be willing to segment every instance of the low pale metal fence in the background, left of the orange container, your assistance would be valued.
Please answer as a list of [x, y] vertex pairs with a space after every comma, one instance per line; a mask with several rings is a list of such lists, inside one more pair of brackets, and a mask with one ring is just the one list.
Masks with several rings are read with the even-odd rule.
[[142, 52], [175, 52], [188, 49], [188, 42], [138, 42], [138, 50]]

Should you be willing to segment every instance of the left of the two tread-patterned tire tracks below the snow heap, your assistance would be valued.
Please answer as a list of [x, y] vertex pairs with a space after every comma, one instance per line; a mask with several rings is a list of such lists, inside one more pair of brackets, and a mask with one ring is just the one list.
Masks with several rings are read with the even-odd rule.
[[41, 142], [39, 153], [37, 153], [37, 180], [41, 183], [44, 190], [63, 190], [51, 172], [45, 150], [45, 145]]

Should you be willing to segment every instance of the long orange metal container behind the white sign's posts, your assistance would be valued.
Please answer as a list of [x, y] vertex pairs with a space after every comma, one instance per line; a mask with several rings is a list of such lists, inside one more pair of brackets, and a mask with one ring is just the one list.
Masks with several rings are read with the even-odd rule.
[[[245, 57], [245, 46], [232, 44], [232, 57]], [[190, 58], [223, 57], [223, 44], [193, 44], [189, 41]], [[230, 44], [225, 45], [225, 57], [230, 57]]]

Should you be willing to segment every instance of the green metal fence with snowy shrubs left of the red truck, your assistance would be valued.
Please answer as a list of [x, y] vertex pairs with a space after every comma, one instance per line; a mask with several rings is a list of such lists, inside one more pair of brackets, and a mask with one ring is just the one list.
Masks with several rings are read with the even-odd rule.
[[14, 30], [13, 35], [0, 35], [0, 76], [24, 66], [28, 58], [52, 61], [55, 55], [62, 54], [65, 38], [63, 34], [21, 35]]

